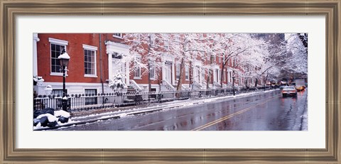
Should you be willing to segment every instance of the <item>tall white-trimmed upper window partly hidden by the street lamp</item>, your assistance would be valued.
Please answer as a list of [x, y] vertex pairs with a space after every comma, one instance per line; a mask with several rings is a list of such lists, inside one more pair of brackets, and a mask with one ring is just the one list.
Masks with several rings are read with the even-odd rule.
[[50, 75], [63, 75], [63, 72], [60, 68], [60, 62], [58, 60], [58, 56], [62, 53], [64, 49], [65, 52], [67, 51], [66, 45], [67, 41], [65, 40], [58, 40], [54, 38], [48, 38], [50, 42], [50, 57], [51, 57], [51, 74]]

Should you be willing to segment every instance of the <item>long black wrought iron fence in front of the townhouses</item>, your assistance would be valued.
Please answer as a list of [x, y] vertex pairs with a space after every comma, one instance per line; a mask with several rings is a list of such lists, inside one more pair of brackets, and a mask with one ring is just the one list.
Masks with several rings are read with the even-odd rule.
[[[271, 89], [270, 87], [235, 88], [235, 94], [256, 92]], [[274, 89], [274, 88], [272, 88]], [[216, 97], [232, 95], [232, 88], [222, 89], [192, 89], [184, 91], [168, 92], [129, 92], [129, 93], [107, 93], [107, 94], [67, 94], [67, 110], [88, 111], [92, 109], [105, 109], [115, 106], [131, 106], [139, 104], [150, 104], [157, 102], [170, 102], [190, 98]], [[39, 95], [33, 99], [33, 109], [62, 109], [62, 97], [60, 95]]]

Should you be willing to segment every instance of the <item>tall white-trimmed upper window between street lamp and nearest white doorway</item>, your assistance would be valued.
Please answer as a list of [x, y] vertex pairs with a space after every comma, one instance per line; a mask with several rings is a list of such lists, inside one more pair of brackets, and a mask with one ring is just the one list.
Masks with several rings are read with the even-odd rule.
[[84, 48], [84, 76], [97, 77], [96, 73], [96, 50], [97, 47], [83, 45]]

